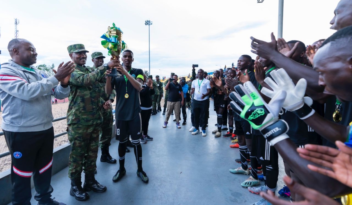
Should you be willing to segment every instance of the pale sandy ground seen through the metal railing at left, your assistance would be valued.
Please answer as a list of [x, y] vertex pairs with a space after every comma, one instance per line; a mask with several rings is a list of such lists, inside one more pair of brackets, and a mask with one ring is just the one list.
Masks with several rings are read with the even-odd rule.
[[[161, 100], [161, 105], [163, 106], [163, 104], [164, 104], [164, 99]], [[52, 107], [51, 108], [52, 115], [54, 116], [54, 118], [66, 116], [67, 109], [68, 109], [67, 102], [54, 104], [51, 107]], [[0, 124], [2, 122], [1, 115], [2, 115], [2, 112], [0, 112]], [[53, 126], [54, 126], [55, 134], [65, 132], [66, 128], [67, 128], [66, 119], [54, 122]], [[2, 131], [1, 128], [0, 128], [0, 131]], [[55, 138], [55, 140], [54, 140], [54, 148], [61, 146], [65, 143], [68, 143], [67, 135], [59, 136], [59, 137]], [[2, 135], [2, 136], [0, 136], [0, 153], [7, 152], [7, 151], [8, 151], [8, 148], [6, 145], [5, 137], [4, 137], [4, 135]], [[11, 167], [10, 155], [5, 156], [3, 158], [0, 158], [0, 172], [5, 171], [6, 169], [9, 169], [10, 167]]]

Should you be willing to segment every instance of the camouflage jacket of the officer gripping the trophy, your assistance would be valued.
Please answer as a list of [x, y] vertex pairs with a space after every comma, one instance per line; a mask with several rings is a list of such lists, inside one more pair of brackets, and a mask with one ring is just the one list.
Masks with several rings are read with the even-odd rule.
[[67, 124], [89, 125], [102, 122], [102, 107], [99, 81], [105, 71], [76, 65], [69, 81], [70, 95]]

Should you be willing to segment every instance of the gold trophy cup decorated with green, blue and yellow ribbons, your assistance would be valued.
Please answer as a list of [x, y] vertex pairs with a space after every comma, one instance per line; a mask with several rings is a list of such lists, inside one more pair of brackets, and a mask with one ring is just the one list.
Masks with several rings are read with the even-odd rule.
[[[113, 23], [112, 27], [109, 26], [108, 31], [101, 36], [101, 38], [105, 39], [101, 41], [101, 45], [108, 49], [108, 55], [112, 56], [113, 59], [117, 59], [120, 53], [127, 49], [126, 43], [122, 40], [123, 33], [124, 32]], [[118, 72], [116, 68], [113, 68], [108, 76], [116, 77], [122, 76], [122, 74]]]

